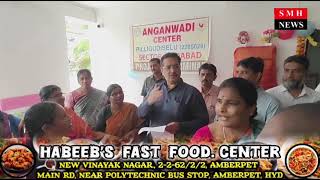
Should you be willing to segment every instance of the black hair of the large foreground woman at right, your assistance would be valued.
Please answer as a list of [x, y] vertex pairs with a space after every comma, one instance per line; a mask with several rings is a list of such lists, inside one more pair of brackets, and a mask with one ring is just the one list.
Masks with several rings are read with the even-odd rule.
[[[232, 88], [238, 91], [240, 97], [245, 101], [245, 103], [248, 106], [256, 106], [257, 105], [257, 99], [258, 99], [258, 93], [257, 89], [254, 84], [252, 84], [250, 81], [243, 79], [243, 78], [229, 78], [224, 80], [219, 89], [223, 88]], [[257, 110], [251, 118], [255, 117], [257, 115]]]

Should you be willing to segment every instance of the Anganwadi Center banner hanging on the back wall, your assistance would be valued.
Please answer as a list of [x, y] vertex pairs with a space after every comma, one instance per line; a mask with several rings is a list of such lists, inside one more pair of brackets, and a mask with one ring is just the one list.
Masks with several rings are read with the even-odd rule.
[[209, 59], [209, 28], [209, 17], [132, 26], [133, 70], [148, 71], [150, 59], [176, 52], [182, 71], [198, 71]]

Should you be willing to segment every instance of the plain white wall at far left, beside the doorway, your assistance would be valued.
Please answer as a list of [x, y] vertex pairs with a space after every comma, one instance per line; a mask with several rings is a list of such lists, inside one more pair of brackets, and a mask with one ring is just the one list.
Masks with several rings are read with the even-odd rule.
[[96, 21], [69, 2], [0, 2], [0, 99], [48, 84], [69, 91], [65, 16]]

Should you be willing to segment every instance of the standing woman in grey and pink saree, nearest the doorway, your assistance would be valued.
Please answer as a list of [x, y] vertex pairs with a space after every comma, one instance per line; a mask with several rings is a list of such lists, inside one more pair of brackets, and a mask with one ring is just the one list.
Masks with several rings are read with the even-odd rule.
[[76, 112], [94, 129], [97, 113], [104, 105], [105, 93], [91, 86], [92, 76], [88, 69], [80, 70], [77, 77], [80, 88], [67, 95], [65, 106]]

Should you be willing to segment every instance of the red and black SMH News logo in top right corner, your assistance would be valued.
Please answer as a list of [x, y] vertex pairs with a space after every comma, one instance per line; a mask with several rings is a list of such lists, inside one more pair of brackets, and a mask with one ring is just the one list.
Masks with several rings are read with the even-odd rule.
[[274, 29], [307, 29], [308, 8], [274, 8]]

